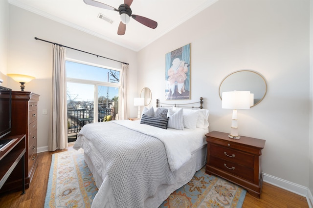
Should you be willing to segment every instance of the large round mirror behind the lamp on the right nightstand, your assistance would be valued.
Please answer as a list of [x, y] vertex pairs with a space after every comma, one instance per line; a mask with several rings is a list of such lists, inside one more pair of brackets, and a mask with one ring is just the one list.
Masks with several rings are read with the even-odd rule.
[[266, 95], [268, 86], [265, 79], [258, 73], [249, 70], [241, 70], [231, 73], [224, 78], [220, 84], [220, 98], [222, 99], [222, 93], [228, 91], [250, 91], [253, 93], [253, 104], [254, 106], [259, 104]]

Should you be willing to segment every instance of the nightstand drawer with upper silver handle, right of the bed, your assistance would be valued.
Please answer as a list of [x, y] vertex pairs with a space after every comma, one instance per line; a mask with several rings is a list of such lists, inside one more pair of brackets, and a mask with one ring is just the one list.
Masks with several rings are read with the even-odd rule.
[[238, 163], [243, 166], [247, 166], [250, 168], [254, 167], [254, 156], [250, 154], [246, 154], [241, 151], [236, 151], [232, 148], [227, 148], [224, 146], [217, 146], [210, 144], [209, 149], [210, 155], [220, 157], [224, 160], [228, 160], [233, 163]]

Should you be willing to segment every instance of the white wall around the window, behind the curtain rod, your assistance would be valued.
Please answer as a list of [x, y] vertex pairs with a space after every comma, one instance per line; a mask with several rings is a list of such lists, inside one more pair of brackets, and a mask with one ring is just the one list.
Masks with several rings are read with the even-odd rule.
[[[2, 1], [1, 1], [2, 2]], [[40, 95], [38, 103], [38, 148], [45, 150], [48, 141], [50, 124], [50, 108], [52, 93], [52, 44], [36, 41], [34, 37], [57, 42], [114, 60], [130, 63], [129, 69], [129, 102], [137, 96], [136, 53], [111, 42], [91, 36], [87, 33], [49, 20], [19, 7], [9, 5], [9, 36], [7, 50], [7, 72], [27, 74], [36, 77], [25, 84], [25, 91]], [[2, 21], [2, 19], [1, 19]], [[1, 50], [4, 50], [2, 46]], [[110, 67], [121, 68], [121, 63], [103, 58], [96, 58], [67, 48], [67, 57], [86, 62], [96, 62]], [[20, 90], [20, 84], [8, 78], [5, 86]], [[48, 115], [42, 115], [47, 109]], [[134, 115], [136, 112], [134, 111]]]

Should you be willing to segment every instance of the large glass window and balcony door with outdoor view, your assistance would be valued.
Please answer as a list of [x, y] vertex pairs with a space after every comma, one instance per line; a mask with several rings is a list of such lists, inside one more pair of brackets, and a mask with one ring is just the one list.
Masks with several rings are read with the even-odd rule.
[[[118, 69], [66, 61], [68, 142], [86, 124], [114, 120], [118, 113]], [[70, 139], [71, 138], [71, 139]]]

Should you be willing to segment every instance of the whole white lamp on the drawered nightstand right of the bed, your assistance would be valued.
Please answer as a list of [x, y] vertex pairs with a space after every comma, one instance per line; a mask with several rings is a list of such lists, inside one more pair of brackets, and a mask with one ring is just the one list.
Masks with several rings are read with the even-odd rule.
[[[222, 108], [233, 109], [230, 134], [232, 139], [240, 139], [238, 135], [237, 109], [249, 109], [253, 101], [250, 91], [231, 91], [222, 93]], [[253, 105], [253, 104], [252, 104]]]

